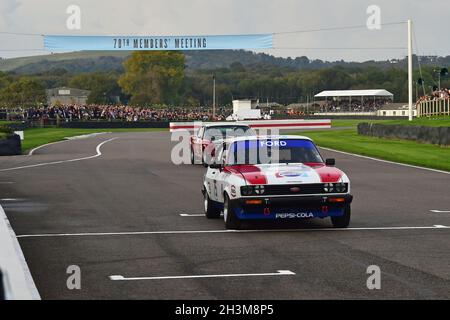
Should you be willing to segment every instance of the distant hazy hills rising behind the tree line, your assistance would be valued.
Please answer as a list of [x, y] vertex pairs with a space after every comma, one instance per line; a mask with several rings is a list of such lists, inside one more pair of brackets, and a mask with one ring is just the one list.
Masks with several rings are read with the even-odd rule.
[[[188, 69], [217, 69], [227, 68], [234, 62], [244, 66], [263, 65], [297, 70], [323, 69], [333, 66], [346, 68], [376, 67], [382, 70], [390, 68], [406, 68], [406, 59], [345, 62], [311, 60], [305, 56], [296, 58], [280, 58], [265, 53], [254, 53], [245, 50], [215, 50], [215, 51], [186, 51]], [[70, 73], [94, 71], [122, 71], [124, 59], [130, 51], [79, 51], [70, 53], [56, 53], [24, 58], [0, 60], [0, 71], [13, 71], [17, 74], [35, 74], [48, 72], [52, 69], [66, 69]], [[414, 59], [417, 64], [417, 58]], [[421, 57], [422, 65], [448, 66], [450, 56]]]

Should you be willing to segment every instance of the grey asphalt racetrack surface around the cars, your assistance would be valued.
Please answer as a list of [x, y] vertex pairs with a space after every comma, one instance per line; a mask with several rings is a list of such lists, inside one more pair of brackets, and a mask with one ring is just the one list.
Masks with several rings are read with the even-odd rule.
[[[450, 226], [450, 175], [322, 150], [351, 179], [360, 229], [325, 219], [222, 232], [220, 219], [180, 215], [203, 212], [205, 169], [172, 164], [172, 146], [168, 132], [112, 133], [0, 158], [0, 204], [43, 299], [450, 298], [450, 229], [434, 227]], [[70, 265], [80, 290], [66, 286]], [[370, 265], [380, 290], [366, 286]], [[295, 275], [220, 276], [278, 270]]]

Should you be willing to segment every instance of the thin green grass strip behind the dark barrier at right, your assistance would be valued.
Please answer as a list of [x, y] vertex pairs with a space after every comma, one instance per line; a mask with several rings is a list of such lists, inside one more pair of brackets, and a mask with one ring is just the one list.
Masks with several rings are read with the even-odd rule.
[[431, 126], [431, 127], [448, 127], [450, 126], [450, 117], [436, 117], [436, 118], [416, 118], [413, 121], [408, 120], [346, 120], [337, 119], [331, 120], [331, 126], [335, 128], [339, 127], [356, 127], [358, 123], [381, 123], [381, 124], [396, 124], [396, 125], [409, 125], [409, 126]]

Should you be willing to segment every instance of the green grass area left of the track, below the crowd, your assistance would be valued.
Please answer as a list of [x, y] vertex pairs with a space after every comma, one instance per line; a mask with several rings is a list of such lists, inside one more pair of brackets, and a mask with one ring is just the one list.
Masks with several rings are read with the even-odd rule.
[[57, 142], [74, 136], [99, 133], [99, 132], [147, 132], [147, 131], [168, 131], [159, 128], [124, 128], [124, 129], [71, 129], [71, 128], [31, 128], [26, 129], [25, 139], [22, 141], [22, 152], [42, 146], [47, 143]]

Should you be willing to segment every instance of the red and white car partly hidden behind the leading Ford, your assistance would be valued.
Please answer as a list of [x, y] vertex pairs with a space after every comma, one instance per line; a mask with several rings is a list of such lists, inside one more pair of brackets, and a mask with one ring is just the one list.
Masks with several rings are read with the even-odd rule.
[[214, 142], [255, 135], [255, 131], [246, 124], [205, 124], [191, 136], [191, 164], [209, 163], [214, 157]]

